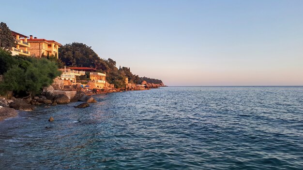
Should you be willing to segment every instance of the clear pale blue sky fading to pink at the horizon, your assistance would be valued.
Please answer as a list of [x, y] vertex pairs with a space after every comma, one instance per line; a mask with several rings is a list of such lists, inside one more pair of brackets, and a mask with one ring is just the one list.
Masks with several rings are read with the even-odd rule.
[[0, 1], [11, 30], [165, 85], [303, 85], [303, 0]]

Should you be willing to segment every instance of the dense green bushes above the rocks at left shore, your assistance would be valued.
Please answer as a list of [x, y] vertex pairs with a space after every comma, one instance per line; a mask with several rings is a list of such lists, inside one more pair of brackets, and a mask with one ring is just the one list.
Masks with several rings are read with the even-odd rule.
[[0, 50], [0, 93], [13, 91], [16, 96], [39, 94], [43, 87], [51, 85], [61, 75], [55, 62], [46, 58], [11, 56]]

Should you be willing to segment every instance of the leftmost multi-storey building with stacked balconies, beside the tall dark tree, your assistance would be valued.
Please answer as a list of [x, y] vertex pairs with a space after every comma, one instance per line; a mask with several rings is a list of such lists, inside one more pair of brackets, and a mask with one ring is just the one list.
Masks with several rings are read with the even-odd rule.
[[[29, 37], [15, 31], [11, 32], [13, 37], [16, 39], [16, 47], [13, 47], [11, 50], [12, 55], [30, 56], [30, 52], [28, 51], [30, 48], [30, 43], [27, 42]], [[20, 38], [23, 38], [23, 40]]]

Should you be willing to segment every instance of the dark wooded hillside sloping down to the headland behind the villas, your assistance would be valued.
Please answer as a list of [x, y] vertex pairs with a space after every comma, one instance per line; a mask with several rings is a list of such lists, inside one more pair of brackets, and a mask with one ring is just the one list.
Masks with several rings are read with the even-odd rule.
[[161, 80], [139, 77], [130, 71], [130, 68], [116, 66], [116, 61], [111, 58], [103, 59], [91, 49], [90, 46], [73, 42], [59, 48], [59, 58], [66, 66], [70, 67], [91, 67], [106, 73], [106, 81], [115, 85], [116, 88], [125, 87], [125, 78], [132, 84], [140, 84], [143, 80], [147, 83], [162, 83]]

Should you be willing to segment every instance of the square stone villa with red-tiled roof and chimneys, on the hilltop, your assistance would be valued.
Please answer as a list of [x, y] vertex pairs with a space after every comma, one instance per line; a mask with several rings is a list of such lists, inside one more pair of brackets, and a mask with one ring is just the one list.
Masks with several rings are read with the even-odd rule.
[[28, 48], [30, 54], [35, 57], [53, 55], [58, 58], [58, 51], [62, 46], [59, 42], [54, 40], [38, 39], [37, 37], [33, 38], [32, 35], [30, 35], [30, 39], [27, 39], [27, 42], [30, 42], [30, 47]]

